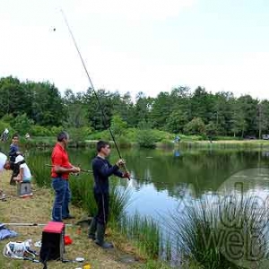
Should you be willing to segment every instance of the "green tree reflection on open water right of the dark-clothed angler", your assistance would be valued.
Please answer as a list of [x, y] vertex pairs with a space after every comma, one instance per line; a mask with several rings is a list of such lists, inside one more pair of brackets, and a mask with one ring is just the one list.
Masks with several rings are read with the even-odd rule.
[[[173, 152], [131, 150], [124, 152], [128, 168], [138, 178], [150, 178], [158, 191], [168, 190], [171, 196], [180, 196], [182, 183], [192, 184], [195, 193], [216, 191], [221, 183], [240, 169], [263, 165], [266, 159], [259, 152], [201, 151], [182, 152], [179, 158]], [[147, 159], [152, 156], [152, 159]], [[150, 177], [148, 177], [150, 175]], [[164, 181], [160, 184], [156, 181]], [[179, 192], [178, 192], [179, 190]]]

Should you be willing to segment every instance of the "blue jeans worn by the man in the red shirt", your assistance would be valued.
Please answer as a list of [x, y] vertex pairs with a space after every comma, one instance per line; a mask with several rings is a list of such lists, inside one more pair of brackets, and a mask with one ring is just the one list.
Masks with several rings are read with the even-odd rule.
[[68, 204], [71, 201], [69, 182], [64, 178], [52, 178], [51, 186], [56, 194], [52, 209], [52, 220], [63, 221], [63, 218], [69, 216]]

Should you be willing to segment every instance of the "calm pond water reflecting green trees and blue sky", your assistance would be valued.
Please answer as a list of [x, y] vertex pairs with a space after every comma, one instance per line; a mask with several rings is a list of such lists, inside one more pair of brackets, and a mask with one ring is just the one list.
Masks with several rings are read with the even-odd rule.
[[[94, 150], [69, 149], [68, 152], [74, 164], [91, 169]], [[255, 150], [127, 149], [121, 153], [132, 177], [146, 181], [111, 180], [116, 180], [120, 187], [130, 189], [132, 203], [128, 213], [138, 212], [152, 216], [154, 220], [173, 212], [185, 199], [196, 199], [220, 191], [232, 175], [246, 169], [267, 168], [269, 162], [269, 152]], [[30, 150], [27, 155], [35, 155], [44, 164], [50, 163], [50, 150]], [[117, 161], [116, 150], [112, 151], [109, 161]], [[252, 183], [247, 184], [247, 189], [266, 190], [269, 187], [265, 184], [269, 180], [267, 176], [262, 181], [256, 180], [255, 184], [250, 180]], [[93, 180], [91, 175], [89, 179]], [[247, 182], [245, 179], [244, 182]], [[73, 180], [79, 180], [79, 177]]]

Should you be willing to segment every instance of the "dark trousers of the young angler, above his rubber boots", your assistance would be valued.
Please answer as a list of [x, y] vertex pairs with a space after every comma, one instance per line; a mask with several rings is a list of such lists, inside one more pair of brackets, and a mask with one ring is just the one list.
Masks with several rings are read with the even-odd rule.
[[98, 208], [95, 219], [100, 224], [106, 225], [108, 223], [109, 194], [97, 194], [94, 192], [94, 199]]

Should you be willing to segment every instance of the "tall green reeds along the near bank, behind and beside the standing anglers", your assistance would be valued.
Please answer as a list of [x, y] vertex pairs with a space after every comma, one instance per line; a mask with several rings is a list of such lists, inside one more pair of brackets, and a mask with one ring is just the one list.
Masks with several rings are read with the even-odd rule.
[[[48, 152], [45, 154], [47, 156]], [[44, 166], [43, 161], [44, 159], [38, 156], [28, 158], [30, 169], [38, 186], [49, 187], [51, 184], [50, 169]], [[138, 214], [135, 214], [134, 217], [127, 217], [126, 207], [130, 203], [130, 192], [128, 189], [117, 187], [117, 184], [113, 184], [113, 181], [111, 183], [109, 227], [133, 242], [139, 256], [157, 259], [161, 254], [162, 257], [165, 257], [164, 253], [160, 253], [161, 249], [165, 247], [162, 246], [161, 230], [157, 223], [147, 218], [141, 218]], [[92, 176], [88, 174], [73, 176], [70, 179], [70, 187], [72, 203], [81, 207], [89, 215], [94, 215], [96, 213], [96, 203], [92, 193]], [[166, 245], [168, 246], [166, 248], [170, 251], [169, 242]], [[169, 258], [170, 255], [167, 254], [166, 256]]]

